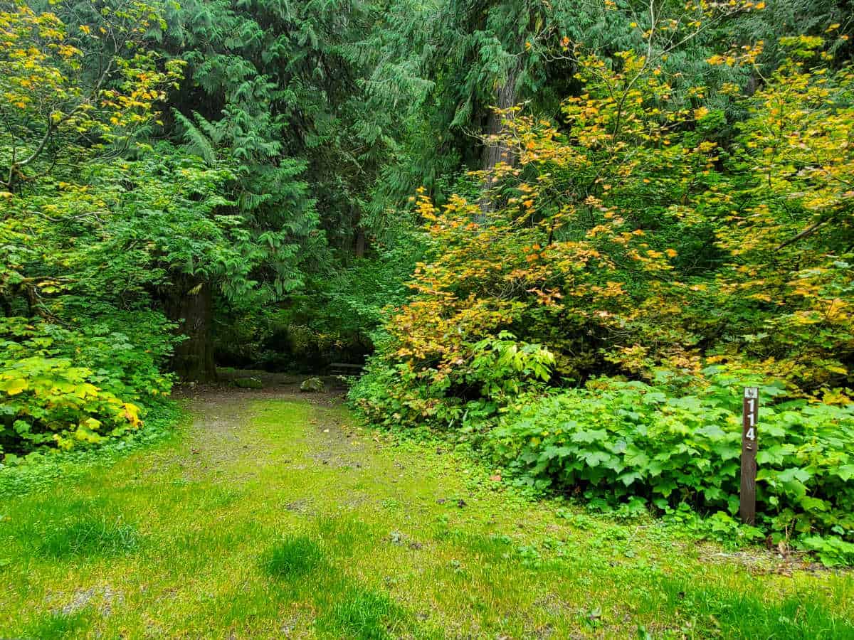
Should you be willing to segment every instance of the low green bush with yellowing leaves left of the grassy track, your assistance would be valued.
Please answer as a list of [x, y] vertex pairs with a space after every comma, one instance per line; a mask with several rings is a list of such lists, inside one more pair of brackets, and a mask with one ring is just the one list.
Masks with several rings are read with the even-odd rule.
[[140, 428], [142, 403], [158, 401], [170, 388], [157, 369], [168, 343], [164, 337], [143, 349], [106, 324], [73, 331], [0, 319], [0, 452], [14, 459], [48, 445], [95, 445]]

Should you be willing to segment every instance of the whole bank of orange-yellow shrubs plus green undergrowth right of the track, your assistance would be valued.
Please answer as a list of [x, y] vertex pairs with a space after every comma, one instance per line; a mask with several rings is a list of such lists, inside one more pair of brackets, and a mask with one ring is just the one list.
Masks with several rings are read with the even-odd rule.
[[[356, 401], [380, 422], [453, 428], [536, 486], [732, 514], [738, 399], [755, 384], [767, 421], [783, 421], [765, 440], [766, 525], [837, 527], [834, 561], [848, 561], [851, 521], [832, 501], [854, 469], [854, 74], [828, 64], [822, 38], [781, 45], [752, 95], [629, 51], [616, 69], [579, 58], [583, 90], [558, 123], [504, 112], [487, 193], [414, 199], [430, 259]], [[708, 64], [759, 73], [760, 52]], [[720, 108], [704, 106], [711, 91]]]

